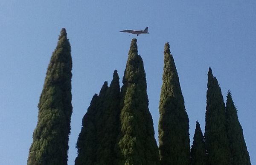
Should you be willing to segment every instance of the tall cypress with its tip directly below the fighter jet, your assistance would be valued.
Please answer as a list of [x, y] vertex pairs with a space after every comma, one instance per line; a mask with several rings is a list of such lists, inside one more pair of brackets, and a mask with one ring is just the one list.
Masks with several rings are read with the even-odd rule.
[[147, 84], [137, 39], [132, 39], [123, 77], [119, 165], [158, 165], [159, 155], [148, 110]]

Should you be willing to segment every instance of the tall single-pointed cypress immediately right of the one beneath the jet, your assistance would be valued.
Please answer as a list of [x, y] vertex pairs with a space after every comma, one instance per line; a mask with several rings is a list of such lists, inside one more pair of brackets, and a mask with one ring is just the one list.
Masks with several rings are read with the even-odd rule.
[[164, 47], [163, 85], [159, 112], [158, 139], [161, 165], [188, 165], [189, 118], [168, 42]]

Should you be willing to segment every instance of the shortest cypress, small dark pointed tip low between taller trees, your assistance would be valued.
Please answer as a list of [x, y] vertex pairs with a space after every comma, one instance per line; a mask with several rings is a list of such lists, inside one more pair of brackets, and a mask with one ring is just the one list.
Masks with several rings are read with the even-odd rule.
[[191, 165], [206, 165], [206, 151], [203, 133], [198, 121], [196, 122], [194, 141], [191, 146]]

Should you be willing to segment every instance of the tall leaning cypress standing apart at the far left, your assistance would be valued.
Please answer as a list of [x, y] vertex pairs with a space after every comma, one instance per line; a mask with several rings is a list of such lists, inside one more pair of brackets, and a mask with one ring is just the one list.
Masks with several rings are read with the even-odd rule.
[[70, 134], [72, 58], [66, 30], [48, 65], [38, 103], [38, 123], [29, 149], [28, 165], [67, 165]]

